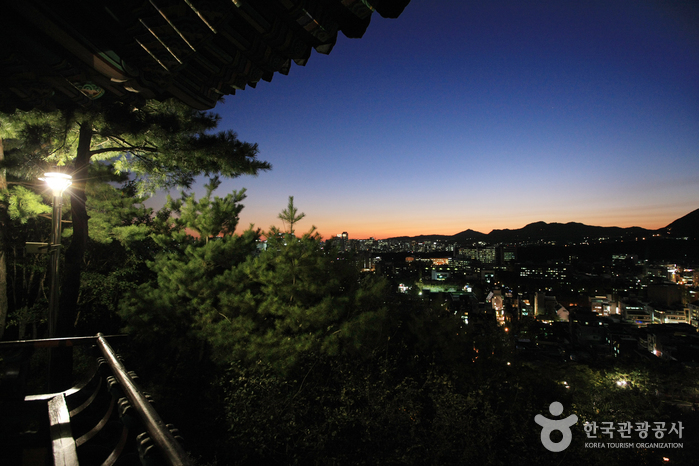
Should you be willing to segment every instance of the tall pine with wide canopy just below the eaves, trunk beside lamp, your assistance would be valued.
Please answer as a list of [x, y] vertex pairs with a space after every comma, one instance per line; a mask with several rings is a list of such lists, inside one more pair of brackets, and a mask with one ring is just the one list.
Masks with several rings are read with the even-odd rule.
[[[70, 335], [76, 317], [80, 275], [88, 238], [85, 183], [92, 161], [109, 159], [117, 172], [134, 176], [138, 193], [157, 187], [191, 186], [199, 175], [237, 177], [270, 165], [257, 160], [256, 144], [235, 133], [212, 133], [220, 117], [176, 101], [148, 101], [141, 107], [117, 103], [60, 113], [17, 112], [0, 118], [0, 136], [13, 133], [24, 144], [24, 165], [41, 161], [67, 165], [73, 175], [73, 234], [65, 272], [57, 331]], [[7, 136], [5, 136], [7, 137]]]

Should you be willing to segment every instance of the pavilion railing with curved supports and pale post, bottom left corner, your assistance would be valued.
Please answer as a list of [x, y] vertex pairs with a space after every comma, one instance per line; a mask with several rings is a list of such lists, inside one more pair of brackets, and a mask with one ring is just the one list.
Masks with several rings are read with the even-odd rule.
[[[123, 337], [98, 333], [88, 337], [0, 342], [0, 350], [94, 345], [99, 351], [97, 369], [86, 383], [59, 393], [24, 397], [24, 403], [46, 403], [44, 412], [54, 465], [77, 466], [82, 462], [111, 466], [127, 456], [132, 460], [137, 457], [144, 465], [192, 464], [180, 444], [177, 430], [161, 419], [150, 397], [138, 386], [136, 374], [126, 370], [107, 341]], [[120, 422], [120, 432], [105, 434], [106, 430], [114, 430], [115, 421]], [[105, 429], [108, 425], [110, 429]]]

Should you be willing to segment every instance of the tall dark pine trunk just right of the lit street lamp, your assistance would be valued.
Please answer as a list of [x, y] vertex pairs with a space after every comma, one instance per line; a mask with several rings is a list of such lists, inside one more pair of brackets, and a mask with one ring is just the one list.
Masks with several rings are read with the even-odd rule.
[[[65, 253], [63, 286], [58, 306], [56, 336], [75, 335], [75, 320], [78, 314], [80, 294], [80, 274], [87, 246], [87, 209], [85, 183], [90, 165], [90, 144], [92, 143], [92, 123], [83, 121], [80, 126], [78, 152], [75, 157], [73, 184], [70, 189], [70, 211], [73, 221], [73, 237]], [[65, 390], [73, 383], [73, 348], [53, 348], [49, 374], [50, 391]]]

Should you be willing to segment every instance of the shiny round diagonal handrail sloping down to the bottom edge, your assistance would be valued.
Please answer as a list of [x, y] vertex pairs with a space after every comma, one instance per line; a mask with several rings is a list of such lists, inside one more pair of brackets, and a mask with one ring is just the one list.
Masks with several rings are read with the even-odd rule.
[[112, 368], [114, 377], [121, 385], [126, 398], [128, 398], [131, 406], [133, 406], [141, 418], [148, 435], [163, 454], [164, 459], [172, 466], [191, 466], [193, 463], [187, 453], [165, 426], [165, 422], [163, 422], [155, 408], [143, 395], [141, 389], [134, 383], [124, 365], [117, 359], [112, 347], [107, 343], [105, 336], [101, 333], [97, 334], [97, 346]]

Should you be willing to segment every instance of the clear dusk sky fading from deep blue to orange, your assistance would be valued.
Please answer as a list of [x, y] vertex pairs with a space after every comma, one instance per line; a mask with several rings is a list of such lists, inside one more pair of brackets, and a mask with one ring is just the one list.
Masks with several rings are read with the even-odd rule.
[[216, 107], [273, 166], [216, 194], [247, 188], [241, 226], [263, 229], [293, 195], [298, 230], [326, 238], [665, 226], [699, 208], [695, 5], [412, 0], [398, 19], [374, 14], [364, 38], [340, 35]]

